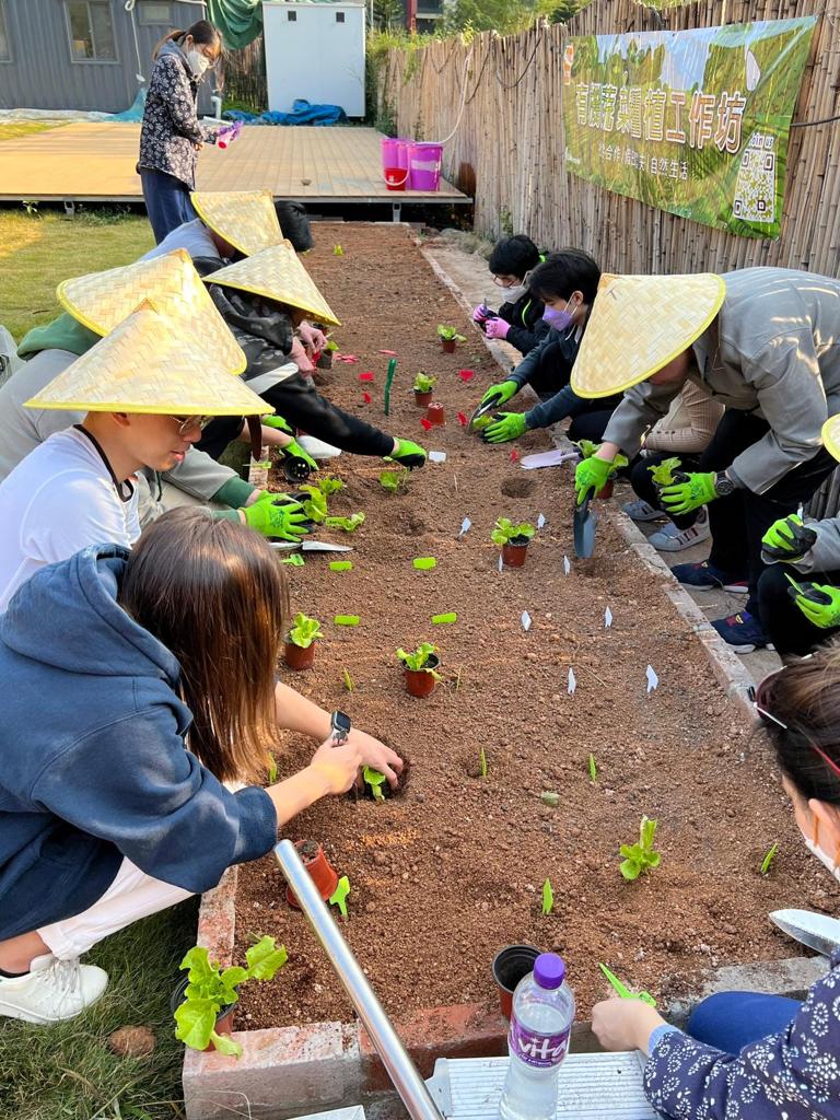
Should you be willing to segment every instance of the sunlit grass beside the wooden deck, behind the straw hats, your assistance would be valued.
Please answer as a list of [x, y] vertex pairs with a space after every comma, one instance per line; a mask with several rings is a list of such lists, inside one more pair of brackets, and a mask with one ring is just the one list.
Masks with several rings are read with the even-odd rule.
[[151, 226], [140, 215], [0, 211], [0, 323], [20, 342], [60, 311], [59, 280], [129, 264], [153, 244]]

